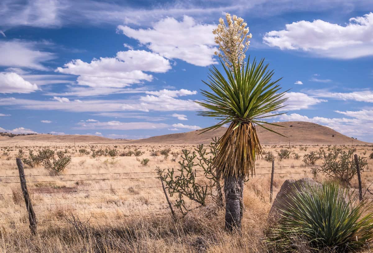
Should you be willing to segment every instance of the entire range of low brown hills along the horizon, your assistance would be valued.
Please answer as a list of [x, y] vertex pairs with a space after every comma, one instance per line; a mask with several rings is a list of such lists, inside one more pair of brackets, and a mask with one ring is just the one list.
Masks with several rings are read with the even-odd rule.
[[[278, 122], [276, 124], [286, 126], [285, 128], [279, 126], [268, 126], [276, 132], [279, 132], [288, 138], [282, 137], [278, 134], [267, 131], [266, 129], [257, 126], [257, 133], [262, 145], [288, 145], [289, 141], [291, 145], [316, 145], [316, 144], [330, 144], [330, 145], [364, 145], [371, 144], [360, 140], [352, 139], [346, 135], [343, 135], [337, 131], [326, 126], [303, 122], [303, 121], [289, 121], [289, 122]], [[222, 136], [227, 128], [221, 127], [214, 131], [208, 131], [200, 134], [200, 131], [191, 131], [176, 134], [166, 134], [154, 136], [140, 140], [115, 140], [95, 135], [50, 135], [50, 134], [34, 134], [15, 136], [13, 138], [0, 136], [1, 144], [26, 144], [28, 145], [41, 145], [49, 143], [70, 143], [73, 144], [74, 140], [76, 143], [83, 144], [134, 144], [134, 145], [195, 145], [195, 144], [208, 144], [211, 142], [211, 138], [215, 136]], [[31, 143], [30, 143], [31, 142]]]

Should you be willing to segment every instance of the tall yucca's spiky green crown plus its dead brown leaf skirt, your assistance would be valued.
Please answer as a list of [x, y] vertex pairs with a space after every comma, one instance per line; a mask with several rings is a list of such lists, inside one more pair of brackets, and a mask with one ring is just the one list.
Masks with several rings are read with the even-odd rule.
[[[219, 153], [213, 161], [217, 173], [223, 177], [245, 177], [255, 173], [255, 159], [263, 153], [257, 137], [255, 125], [271, 132], [264, 124], [280, 126], [264, 121], [265, 118], [281, 115], [274, 113], [284, 107], [285, 92], [279, 92], [278, 81], [272, 81], [273, 70], [267, 70], [268, 64], [258, 64], [254, 59], [239, 68], [233, 65], [229, 70], [222, 63], [224, 74], [216, 67], [210, 69], [207, 82], [211, 92], [202, 90], [206, 97], [204, 102], [196, 101], [209, 111], [198, 112], [198, 115], [209, 116], [220, 120], [216, 125], [202, 129], [203, 132], [213, 130], [230, 123], [230, 126], [219, 142]], [[277, 132], [275, 132], [277, 133]], [[279, 133], [277, 133], [279, 134]], [[280, 134], [282, 135], [282, 134]], [[283, 136], [283, 135], [282, 135]]]

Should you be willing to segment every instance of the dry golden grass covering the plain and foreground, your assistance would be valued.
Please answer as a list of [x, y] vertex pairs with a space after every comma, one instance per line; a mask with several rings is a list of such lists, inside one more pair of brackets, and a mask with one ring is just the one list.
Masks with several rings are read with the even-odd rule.
[[[152, 157], [150, 150], [171, 148], [181, 153], [183, 148], [194, 150], [192, 145], [94, 145], [94, 149], [116, 148], [145, 153], [135, 156], [81, 155], [78, 150], [90, 150], [90, 145], [54, 144], [0, 147], [0, 252], [268, 252], [261, 240], [267, 227], [271, 163], [256, 161], [256, 176], [245, 183], [244, 220], [242, 237], [224, 231], [224, 210], [208, 201], [206, 208], [189, 212], [174, 224], [164, 199], [159, 179], [154, 170], [177, 169], [180, 156], [172, 161], [163, 156]], [[116, 146], [116, 147], [115, 147]], [[38, 234], [28, 229], [27, 213], [21, 196], [15, 155], [19, 148], [29, 150], [49, 147], [69, 151], [72, 163], [60, 174], [53, 175], [43, 166], [25, 166], [28, 189], [38, 220]], [[304, 150], [307, 147], [307, 150]], [[338, 146], [347, 150], [348, 146]], [[263, 146], [265, 151], [277, 154], [286, 146]], [[303, 155], [333, 146], [291, 146], [291, 158], [275, 160], [274, 195], [286, 179], [305, 177], [310, 167], [304, 166]], [[371, 146], [354, 146], [360, 156], [368, 157]], [[76, 150], [76, 151], [75, 151]], [[364, 155], [365, 152], [365, 155]], [[300, 159], [292, 158], [294, 154]], [[137, 159], [138, 158], [138, 159]], [[149, 158], [147, 166], [140, 161]], [[368, 158], [373, 164], [373, 160]], [[322, 161], [317, 161], [321, 164]], [[363, 183], [373, 182], [373, 166], [363, 173]], [[146, 173], [142, 173], [146, 172]], [[74, 175], [75, 174], [75, 175]], [[78, 174], [78, 175], [76, 175]], [[36, 176], [30, 176], [36, 175]], [[311, 177], [311, 174], [306, 174]], [[318, 180], [323, 180], [320, 175]], [[354, 182], [356, 183], [356, 181]], [[193, 203], [190, 203], [193, 206]], [[66, 221], [75, 215], [80, 220], [90, 219], [87, 234], [77, 234]]]

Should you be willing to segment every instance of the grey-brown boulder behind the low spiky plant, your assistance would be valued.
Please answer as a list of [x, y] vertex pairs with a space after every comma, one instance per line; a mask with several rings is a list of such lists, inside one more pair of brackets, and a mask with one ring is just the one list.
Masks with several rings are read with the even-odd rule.
[[279, 220], [279, 218], [281, 217], [280, 214], [282, 214], [280, 210], [285, 209], [287, 203], [290, 202], [288, 196], [292, 195], [295, 191], [303, 192], [306, 189], [305, 187], [308, 185], [321, 186], [320, 183], [317, 183], [315, 180], [309, 177], [305, 177], [299, 180], [285, 180], [269, 211], [269, 224]]

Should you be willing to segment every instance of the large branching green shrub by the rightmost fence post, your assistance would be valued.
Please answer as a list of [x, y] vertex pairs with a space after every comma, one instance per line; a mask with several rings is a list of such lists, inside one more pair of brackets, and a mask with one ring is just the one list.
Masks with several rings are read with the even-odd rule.
[[[368, 163], [364, 157], [358, 157], [360, 171], [367, 169]], [[325, 155], [324, 163], [320, 170], [345, 185], [350, 185], [351, 180], [357, 174], [356, 164], [352, 150], [332, 151]]]

